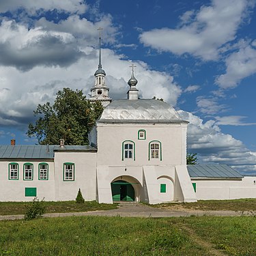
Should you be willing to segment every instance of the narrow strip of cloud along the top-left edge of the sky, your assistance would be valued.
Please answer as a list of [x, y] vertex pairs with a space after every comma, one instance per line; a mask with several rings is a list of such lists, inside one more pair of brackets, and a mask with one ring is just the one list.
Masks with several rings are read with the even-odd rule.
[[58, 10], [70, 13], [84, 13], [87, 10], [87, 5], [81, 0], [1, 0], [0, 12], [12, 12], [18, 8], [24, 8], [29, 14], [35, 14], [38, 10]]

